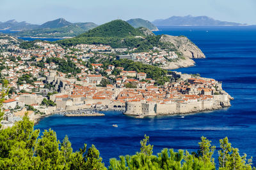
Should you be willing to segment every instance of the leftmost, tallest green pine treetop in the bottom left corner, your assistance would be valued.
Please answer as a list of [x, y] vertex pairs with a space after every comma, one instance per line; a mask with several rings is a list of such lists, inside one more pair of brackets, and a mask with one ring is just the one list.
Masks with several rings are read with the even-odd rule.
[[0, 131], [0, 167], [1, 169], [33, 169], [38, 159], [33, 157], [33, 148], [39, 130], [33, 130], [28, 117], [17, 122], [12, 128]]

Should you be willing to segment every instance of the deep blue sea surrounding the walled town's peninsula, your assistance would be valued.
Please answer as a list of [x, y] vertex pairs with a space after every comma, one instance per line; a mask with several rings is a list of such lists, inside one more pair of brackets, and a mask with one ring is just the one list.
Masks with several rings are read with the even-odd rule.
[[[94, 144], [108, 165], [109, 158], [140, 151], [144, 134], [150, 136], [154, 153], [162, 148], [198, 148], [201, 136], [219, 148], [219, 139], [228, 136], [240, 153], [255, 157], [256, 164], [256, 27], [160, 27], [156, 34], [188, 36], [207, 59], [196, 59], [196, 66], [178, 69], [184, 73], [223, 81], [232, 97], [232, 106], [223, 110], [187, 115], [185, 118], [156, 117], [136, 119], [105, 111], [105, 117], [44, 118], [36, 129], [53, 129], [58, 139], [67, 134], [74, 150]], [[118, 124], [118, 127], [112, 127]], [[215, 158], [218, 153], [215, 152]], [[218, 159], [216, 159], [217, 161]]]

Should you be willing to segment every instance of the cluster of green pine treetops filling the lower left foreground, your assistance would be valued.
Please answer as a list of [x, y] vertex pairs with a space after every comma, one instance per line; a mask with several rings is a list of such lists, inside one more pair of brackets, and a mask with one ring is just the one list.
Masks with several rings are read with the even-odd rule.
[[60, 144], [51, 129], [39, 132], [28, 117], [1, 129], [0, 169], [106, 169], [95, 146], [73, 152], [67, 136]]

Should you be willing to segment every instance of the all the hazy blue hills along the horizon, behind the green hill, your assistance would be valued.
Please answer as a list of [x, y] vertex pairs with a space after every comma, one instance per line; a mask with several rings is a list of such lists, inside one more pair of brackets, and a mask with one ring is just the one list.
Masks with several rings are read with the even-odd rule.
[[[206, 16], [193, 17], [191, 15], [185, 17], [170, 17], [167, 19], [154, 20], [149, 22], [141, 18], [132, 18], [126, 21], [134, 28], [145, 27], [150, 31], [157, 31], [156, 25], [163, 26], [237, 26], [246, 25], [236, 22], [225, 22], [214, 20]], [[8, 20], [0, 22], [0, 29], [10, 29], [11, 31], [19, 31], [12, 33], [12, 36], [20, 37], [45, 37], [45, 38], [63, 38], [74, 37], [83, 34], [90, 29], [97, 27], [93, 22], [77, 22], [71, 23], [64, 18], [45, 22], [42, 25], [29, 24], [27, 22], [17, 22], [16, 20]]]

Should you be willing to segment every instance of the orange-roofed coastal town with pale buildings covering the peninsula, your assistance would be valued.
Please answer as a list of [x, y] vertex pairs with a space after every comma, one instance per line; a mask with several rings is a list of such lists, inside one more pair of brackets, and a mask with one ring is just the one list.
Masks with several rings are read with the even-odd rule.
[[109, 45], [67, 48], [0, 35], [0, 49], [0, 86], [2, 91], [9, 89], [3, 102], [4, 127], [25, 114], [36, 121], [63, 111], [120, 110], [143, 118], [220, 109], [230, 106], [232, 99], [221, 82], [198, 74], [161, 69], [164, 75], [156, 78], [147, 69], [118, 65], [117, 61], [132, 60], [157, 67], [179, 58], [177, 52], [156, 47], [148, 52]]

